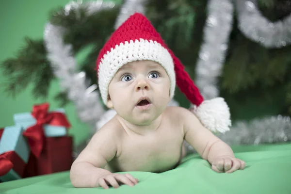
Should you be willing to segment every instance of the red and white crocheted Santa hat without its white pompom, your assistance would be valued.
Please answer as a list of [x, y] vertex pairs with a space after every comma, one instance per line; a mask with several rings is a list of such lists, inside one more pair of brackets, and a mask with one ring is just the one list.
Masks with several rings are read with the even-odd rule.
[[199, 106], [203, 101], [198, 88], [161, 35], [145, 16], [136, 13], [113, 32], [97, 58], [98, 85], [105, 104], [108, 86], [115, 73], [122, 65], [137, 60], [155, 61], [164, 67], [170, 78], [170, 97], [174, 96], [177, 82], [181, 92], [193, 104]]

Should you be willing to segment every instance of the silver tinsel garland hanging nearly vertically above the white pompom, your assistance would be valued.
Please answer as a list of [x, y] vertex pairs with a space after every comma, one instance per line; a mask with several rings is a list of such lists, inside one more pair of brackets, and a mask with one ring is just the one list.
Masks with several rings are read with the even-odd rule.
[[230, 0], [210, 0], [207, 10], [204, 43], [196, 65], [195, 84], [205, 99], [212, 99], [219, 94], [217, 83], [225, 61], [228, 36], [232, 28], [233, 5]]

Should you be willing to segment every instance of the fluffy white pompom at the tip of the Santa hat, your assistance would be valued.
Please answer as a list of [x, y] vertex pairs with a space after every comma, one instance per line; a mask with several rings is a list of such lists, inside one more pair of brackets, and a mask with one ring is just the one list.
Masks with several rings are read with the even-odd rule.
[[229, 108], [222, 97], [204, 100], [191, 110], [200, 122], [213, 132], [224, 133], [231, 126]]

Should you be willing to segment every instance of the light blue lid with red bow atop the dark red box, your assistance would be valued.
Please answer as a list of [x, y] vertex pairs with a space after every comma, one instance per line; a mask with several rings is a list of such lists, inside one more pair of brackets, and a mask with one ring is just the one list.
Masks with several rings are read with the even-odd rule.
[[64, 110], [49, 112], [49, 103], [34, 105], [32, 113], [17, 113], [14, 115], [16, 126], [25, 128], [23, 135], [28, 138], [32, 154], [38, 158], [42, 152], [46, 137], [66, 135], [70, 127]]

